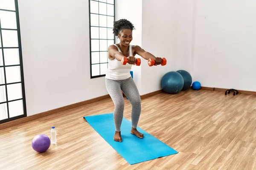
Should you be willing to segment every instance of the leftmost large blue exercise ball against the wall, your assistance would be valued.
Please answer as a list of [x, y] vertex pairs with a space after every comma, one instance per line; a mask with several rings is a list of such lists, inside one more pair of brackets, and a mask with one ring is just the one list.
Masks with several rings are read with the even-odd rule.
[[168, 94], [179, 93], [183, 85], [183, 77], [176, 71], [166, 73], [161, 79], [161, 88]]

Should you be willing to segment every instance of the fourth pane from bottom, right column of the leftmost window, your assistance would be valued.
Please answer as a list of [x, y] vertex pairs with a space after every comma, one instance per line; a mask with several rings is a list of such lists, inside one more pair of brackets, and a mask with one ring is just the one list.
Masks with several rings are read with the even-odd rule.
[[20, 64], [19, 49], [10, 48], [3, 49], [5, 65], [17, 65]]

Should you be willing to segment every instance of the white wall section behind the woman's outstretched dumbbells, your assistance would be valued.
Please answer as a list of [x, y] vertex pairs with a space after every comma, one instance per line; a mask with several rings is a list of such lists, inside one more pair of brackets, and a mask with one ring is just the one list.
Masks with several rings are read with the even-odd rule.
[[165, 66], [149, 67], [142, 62], [141, 94], [161, 89], [164, 74], [176, 71], [177, 56], [177, 0], [143, 0], [142, 48], [156, 57], [165, 57]]

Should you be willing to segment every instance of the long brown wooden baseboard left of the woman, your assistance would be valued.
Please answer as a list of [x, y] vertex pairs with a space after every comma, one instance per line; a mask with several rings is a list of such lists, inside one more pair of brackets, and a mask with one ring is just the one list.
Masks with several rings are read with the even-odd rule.
[[39, 118], [42, 118], [42, 117], [45, 117], [45, 116], [49, 116], [49, 115], [52, 115], [52, 114], [55, 114], [55, 113], [60, 113], [60, 112], [63, 112], [63, 111], [67, 111], [67, 110], [70, 110], [70, 109], [73, 109], [73, 108], [77, 108], [77, 107], [87, 105], [87, 104], [90, 104], [90, 103], [93, 103], [93, 102], [97, 102], [97, 101], [100, 101], [102, 99], [107, 99], [107, 98], [110, 98], [109, 94], [104, 95], [104, 96], [100, 96], [100, 97], [96, 97], [94, 99], [85, 100], [83, 102], [74, 103], [72, 105], [67, 105], [67, 106], [64, 106], [64, 107], [61, 107], [61, 108], [56, 108], [56, 109], [53, 109], [53, 110], [50, 110], [50, 111], [45, 111], [45, 112], [42, 112], [42, 113], [34, 114], [32, 116], [23, 117], [21, 119], [13, 120], [13, 121], [10, 121], [10, 122], [2, 123], [2, 124], [0, 124], [0, 130], [8, 128], [8, 127], [12, 127], [14, 125], [18, 125], [18, 124], [21, 124], [21, 123], [29, 122], [29, 121], [32, 121], [32, 120], [35, 120], [35, 119], [39, 119]]

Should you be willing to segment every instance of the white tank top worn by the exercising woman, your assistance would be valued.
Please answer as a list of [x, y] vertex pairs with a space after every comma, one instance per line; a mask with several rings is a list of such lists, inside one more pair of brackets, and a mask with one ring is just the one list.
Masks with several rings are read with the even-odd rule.
[[[114, 45], [118, 48], [118, 51], [122, 53], [120, 48], [116, 44]], [[129, 45], [129, 56], [133, 56], [132, 45]], [[108, 58], [108, 69], [105, 78], [114, 80], [128, 79], [131, 77], [131, 66], [132, 64], [127, 63], [126, 65], [122, 65], [121, 61]]]

